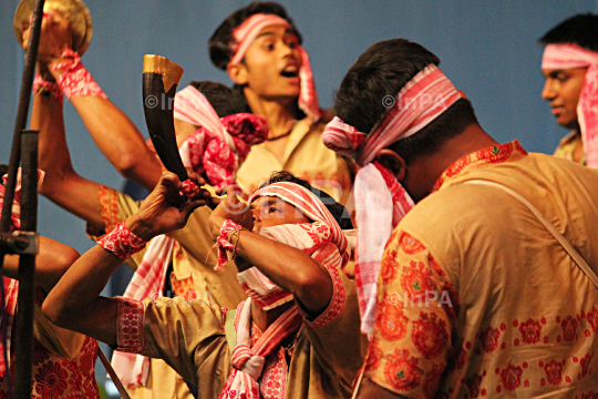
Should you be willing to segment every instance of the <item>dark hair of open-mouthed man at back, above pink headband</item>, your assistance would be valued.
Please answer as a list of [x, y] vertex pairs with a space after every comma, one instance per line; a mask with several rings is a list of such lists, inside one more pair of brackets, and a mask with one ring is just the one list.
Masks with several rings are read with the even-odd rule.
[[254, 1], [249, 6], [238, 9], [228, 16], [216, 29], [212, 38], [209, 38], [209, 58], [214, 65], [226, 71], [228, 62], [233, 58], [233, 45], [235, 43], [233, 30], [240, 25], [247, 18], [257, 13], [275, 14], [289, 21], [299, 39], [299, 43], [301, 43], [301, 34], [282, 6], [276, 2]]

